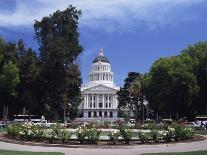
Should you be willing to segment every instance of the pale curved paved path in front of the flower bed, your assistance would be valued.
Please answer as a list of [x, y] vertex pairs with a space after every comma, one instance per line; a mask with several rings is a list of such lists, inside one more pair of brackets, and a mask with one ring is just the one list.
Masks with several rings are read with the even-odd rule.
[[138, 155], [142, 153], [207, 150], [207, 140], [179, 144], [136, 145], [113, 149], [42, 147], [0, 142], [0, 149], [32, 152], [63, 152], [65, 155]]

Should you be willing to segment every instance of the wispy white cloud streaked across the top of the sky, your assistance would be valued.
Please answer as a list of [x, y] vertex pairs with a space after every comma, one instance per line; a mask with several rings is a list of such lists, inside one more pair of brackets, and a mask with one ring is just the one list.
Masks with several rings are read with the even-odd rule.
[[[32, 25], [69, 4], [81, 9], [82, 26], [106, 31], [130, 30], [144, 24], [149, 30], [195, 20], [199, 14], [185, 9], [205, 0], [16, 0], [12, 12], [0, 12], [0, 26]], [[5, 1], [6, 3], [6, 1]]]

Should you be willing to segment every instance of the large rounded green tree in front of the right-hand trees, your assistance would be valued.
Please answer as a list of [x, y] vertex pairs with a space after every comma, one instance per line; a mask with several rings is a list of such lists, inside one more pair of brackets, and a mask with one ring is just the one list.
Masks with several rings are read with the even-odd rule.
[[145, 78], [145, 94], [150, 107], [163, 117], [189, 116], [193, 98], [198, 95], [198, 65], [188, 55], [157, 60]]

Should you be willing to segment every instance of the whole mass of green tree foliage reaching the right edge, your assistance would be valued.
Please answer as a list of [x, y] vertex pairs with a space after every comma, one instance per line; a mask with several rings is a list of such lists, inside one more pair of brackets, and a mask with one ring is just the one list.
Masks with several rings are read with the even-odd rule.
[[190, 45], [181, 54], [160, 58], [144, 78], [144, 92], [150, 108], [172, 114], [174, 119], [193, 119], [195, 114], [204, 114], [207, 90], [207, 43]]

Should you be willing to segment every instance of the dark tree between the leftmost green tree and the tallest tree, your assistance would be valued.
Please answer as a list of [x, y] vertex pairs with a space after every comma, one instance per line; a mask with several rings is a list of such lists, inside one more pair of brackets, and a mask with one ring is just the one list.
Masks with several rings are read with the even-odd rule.
[[17, 53], [20, 74], [20, 83], [17, 86], [18, 102], [21, 108], [19, 110], [26, 111], [28, 114], [40, 114], [38, 57], [31, 48], [25, 48], [22, 39], [18, 42]]

